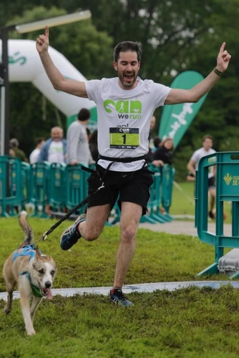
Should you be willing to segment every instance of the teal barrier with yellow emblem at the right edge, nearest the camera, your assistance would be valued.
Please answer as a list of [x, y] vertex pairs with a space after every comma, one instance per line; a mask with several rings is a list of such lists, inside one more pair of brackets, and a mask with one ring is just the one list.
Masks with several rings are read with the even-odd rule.
[[[215, 233], [208, 230], [208, 169], [216, 166]], [[195, 227], [203, 242], [215, 248], [215, 261], [197, 276], [219, 273], [224, 248], [239, 248], [239, 152], [218, 152], [199, 162], [195, 183]], [[224, 234], [224, 203], [231, 203], [231, 236]], [[237, 256], [237, 260], [239, 257]], [[235, 272], [233, 278], [239, 276]]]

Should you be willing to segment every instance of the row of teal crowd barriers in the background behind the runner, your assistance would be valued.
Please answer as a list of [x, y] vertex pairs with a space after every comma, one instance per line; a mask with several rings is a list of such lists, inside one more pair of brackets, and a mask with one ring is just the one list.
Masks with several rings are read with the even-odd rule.
[[[142, 221], [170, 221], [168, 210], [175, 170], [169, 165], [161, 169], [150, 166], [149, 169], [155, 171], [154, 184], [150, 188], [148, 215], [144, 215]], [[47, 205], [55, 213], [71, 210], [88, 195], [89, 175], [81, 165], [50, 165], [48, 162], [30, 165], [11, 156], [0, 156], [0, 215], [16, 215], [27, 203], [34, 208], [32, 215], [38, 217], [49, 216], [45, 211]], [[164, 206], [166, 213], [161, 213], [160, 205]], [[85, 210], [86, 206], [80, 208], [78, 214]], [[112, 214], [114, 224], [120, 220], [117, 205]]]

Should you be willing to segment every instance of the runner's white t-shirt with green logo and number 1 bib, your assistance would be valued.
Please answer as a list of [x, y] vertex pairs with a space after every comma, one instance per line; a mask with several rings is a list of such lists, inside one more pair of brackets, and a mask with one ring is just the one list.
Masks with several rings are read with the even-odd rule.
[[[98, 113], [98, 150], [110, 158], [134, 158], [147, 154], [150, 120], [163, 106], [171, 88], [151, 80], [137, 79], [133, 89], [122, 89], [118, 77], [86, 81], [86, 92], [95, 101]], [[107, 168], [111, 163], [99, 160]], [[110, 170], [134, 171], [144, 161], [115, 162]]]

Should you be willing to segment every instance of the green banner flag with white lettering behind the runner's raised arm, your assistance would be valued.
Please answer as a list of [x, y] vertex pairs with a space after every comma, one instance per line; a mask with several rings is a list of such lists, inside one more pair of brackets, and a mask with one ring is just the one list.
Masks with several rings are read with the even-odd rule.
[[[170, 87], [190, 89], [203, 79], [203, 75], [197, 71], [184, 71], [172, 81]], [[165, 105], [160, 120], [159, 137], [161, 139], [172, 138], [173, 147], [176, 148], [206, 97], [207, 94], [197, 103]]]

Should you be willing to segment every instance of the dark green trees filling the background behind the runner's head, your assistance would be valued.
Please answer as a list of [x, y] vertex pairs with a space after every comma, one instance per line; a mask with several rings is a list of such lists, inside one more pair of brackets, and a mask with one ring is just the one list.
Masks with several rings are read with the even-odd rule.
[[[138, 40], [142, 44], [142, 78], [151, 78], [169, 85], [173, 75], [182, 70], [192, 69], [206, 76], [214, 68], [216, 55], [222, 41], [225, 40], [226, 48], [232, 55], [229, 69], [210, 91], [200, 112], [177, 147], [174, 163], [177, 175], [180, 175], [180, 178], [185, 177], [190, 155], [201, 146], [205, 133], [213, 135], [216, 150], [238, 150], [238, 0], [208, 0], [206, 3], [199, 0], [115, 0], [110, 5], [106, 0], [79, 0], [77, 3], [73, 0], [54, 0], [50, 3], [46, 0], [15, 0], [11, 4], [1, 4], [0, 24], [33, 21], [71, 13], [79, 8], [89, 8], [92, 12], [92, 21], [53, 28], [50, 32], [50, 42], [89, 79], [114, 75], [112, 48], [119, 41], [126, 39]], [[16, 35], [11, 33], [11, 37], [13, 36]], [[37, 33], [33, 33], [20, 37], [35, 39], [36, 36]], [[24, 113], [24, 107], [27, 112], [32, 111], [34, 115], [42, 117], [39, 108], [41, 96], [34, 93], [36, 90], [28, 87], [28, 102], [15, 106], [15, 103], [19, 102], [16, 97], [23, 89], [18, 87], [18, 84], [14, 84], [14, 88], [11, 85], [11, 124], [23, 120], [21, 113]], [[31, 99], [32, 95], [38, 97], [37, 106]], [[39, 108], [39, 114], [35, 114], [33, 108]], [[158, 127], [160, 109], [156, 111], [156, 115]], [[47, 118], [50, 130], [50, 121], [56, 121], [55, 110], [50, 103], [47, 104]], [[61, 120], [64, 124], [63, 116]], [[32, 123], [32, 119], [29, 118], [25, 118], [24, 121]], [[42, 121], [37, 117], [33, 137], [38, 130], [41, 131], [41, 124]], [[11, 135], [16, 136], [14, 125], [12, 128], [14, 132], [11, 130]], [[20, 128], [19, 136], [24, 138], [24, 133], [26, 126], [24, 129]], [[28, 153], [33, 147], [32, 141], [33, 139], [24, 147]]]

